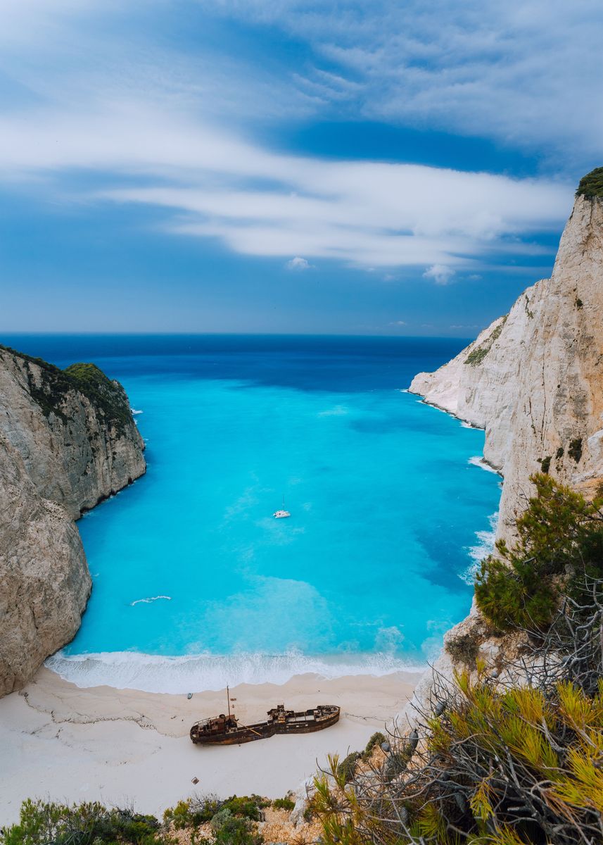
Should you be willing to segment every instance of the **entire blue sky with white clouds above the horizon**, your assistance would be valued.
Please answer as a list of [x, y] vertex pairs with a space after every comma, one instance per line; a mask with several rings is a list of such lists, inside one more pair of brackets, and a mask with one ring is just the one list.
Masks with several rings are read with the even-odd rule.
[[0, 332], [472, 337], [603, 165], [600, 0], [0, 16]]

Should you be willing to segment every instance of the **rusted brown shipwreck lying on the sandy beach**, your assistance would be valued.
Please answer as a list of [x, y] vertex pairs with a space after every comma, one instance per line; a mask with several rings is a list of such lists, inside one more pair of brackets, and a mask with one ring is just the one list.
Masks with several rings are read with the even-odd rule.
[[320, 705], [312, 710], [285, 710], [280, 704], [268, 711], [265, 722], [240, 725], [235, 716], [224, 713], [212, 719], [195, 722], [191, 739], [198, 745], [239, 745], [255, 739], [267, 739], [275, 733], [314, 733], [330, 728], [340, 720], [340, 707]]

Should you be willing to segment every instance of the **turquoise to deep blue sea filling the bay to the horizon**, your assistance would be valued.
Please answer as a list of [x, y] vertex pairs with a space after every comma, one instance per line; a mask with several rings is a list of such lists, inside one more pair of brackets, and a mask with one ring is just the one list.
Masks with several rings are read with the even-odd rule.
[[[119, 379], [147, 474], [79, 521], [94, 588], [49, 665], [220, 689], [424, 665], [470, 608], [499, 479], [484, 434], [405, 392], [464, 341], [19, 335]], [[283, 497], [291, 518], [274, 520]]]

